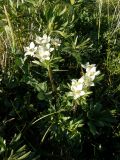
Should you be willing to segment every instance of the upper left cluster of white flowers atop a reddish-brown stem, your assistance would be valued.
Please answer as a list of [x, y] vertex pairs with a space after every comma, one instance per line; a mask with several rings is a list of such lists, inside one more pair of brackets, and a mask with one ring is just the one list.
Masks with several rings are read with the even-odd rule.
[[44, 34], [43, 37], [37, 36], [35, 43], [31, 42], [29, 47], [24, 47], [25, 57], [32, 56], [37, 58], [40, 62], [50, 60], [51, 52], [54, 50], [51, 44], [60, 46], [59, 39], [51, 39], [50, 36], [46, 34]]

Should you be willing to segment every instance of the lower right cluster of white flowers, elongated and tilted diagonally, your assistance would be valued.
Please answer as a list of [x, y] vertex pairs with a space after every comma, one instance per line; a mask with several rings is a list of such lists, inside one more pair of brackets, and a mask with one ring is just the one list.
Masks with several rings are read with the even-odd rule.
[[88, 94], [88, 89], [90, 86], [94, 86], [94, 79], [97, 75], [100, 74], [100, 71], [96, 71], [95, 64], [86, 63], [86, 65], [81, 65], [86, 73], [78, 80], [73, 79], [71, 84], [70, 96], [75, 100], [81, 96]]

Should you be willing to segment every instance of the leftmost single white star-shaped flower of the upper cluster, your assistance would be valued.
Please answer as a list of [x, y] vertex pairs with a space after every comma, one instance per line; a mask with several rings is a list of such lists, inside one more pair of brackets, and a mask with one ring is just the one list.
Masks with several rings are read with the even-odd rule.
[[33, 42], [30, 43], [29, 47], [24, 47], [25, 50], [25, 56], [34, 56], [34, 53], [37, 51], [37, 47], [35, 47], [35, 44]]

